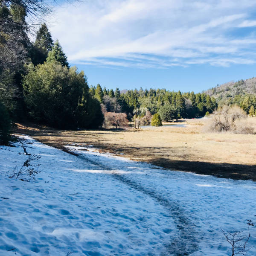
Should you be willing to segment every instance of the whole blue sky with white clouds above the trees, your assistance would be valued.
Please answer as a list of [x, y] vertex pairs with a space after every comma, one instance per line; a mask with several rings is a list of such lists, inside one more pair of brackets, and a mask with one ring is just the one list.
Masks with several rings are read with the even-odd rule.
[[89, 0], [48, 25], [92, 85], [198, 92], [255, 76], [252, 0]]

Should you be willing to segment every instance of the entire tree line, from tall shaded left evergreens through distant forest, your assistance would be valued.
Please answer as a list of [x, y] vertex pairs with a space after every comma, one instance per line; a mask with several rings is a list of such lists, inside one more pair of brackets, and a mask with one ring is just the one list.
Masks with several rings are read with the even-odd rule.
[[104, 121], [102, 112], [108, 123], [119, 126], [126, 123], [126, 116], [149, 120], [158, 113], [169, 121], [211, 113], [217, 107], [204, 93], [142, 88], [120, 93], [99, 84], [89, 88], [84, 73], [70, 68], [60, 42], [53, 42], [45, 23], [36, 31], [35, 41], [29, 39], [26, 16], [49, 12], [44, 0], [0, 2], [1, 143], [9, 140], [12, 124], [24, 119], [61, 129], [97, 128]]

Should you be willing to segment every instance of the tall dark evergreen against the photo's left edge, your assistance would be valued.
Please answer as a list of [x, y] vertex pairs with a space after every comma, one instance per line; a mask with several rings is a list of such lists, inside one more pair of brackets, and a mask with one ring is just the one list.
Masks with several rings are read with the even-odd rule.
[[0, 1], [0, 101], [16, 120], [23, 116], [21, 80], [29, 61], [26, 16], [22, 5]]

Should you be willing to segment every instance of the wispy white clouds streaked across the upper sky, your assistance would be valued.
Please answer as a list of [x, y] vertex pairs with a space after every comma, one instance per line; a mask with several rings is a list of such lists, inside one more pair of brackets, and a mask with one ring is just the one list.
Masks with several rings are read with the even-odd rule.
[[119, 67], [251, 64], [249, 0], [95, 0], [64, 6], [50, 22], [71, 63]]

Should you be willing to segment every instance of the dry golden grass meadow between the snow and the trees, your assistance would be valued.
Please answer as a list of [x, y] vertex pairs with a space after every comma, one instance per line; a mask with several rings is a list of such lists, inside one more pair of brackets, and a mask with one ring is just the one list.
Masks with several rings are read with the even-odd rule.
[[[209, 119], [189, 119], [185, 127], [130, 130], [58, 131], [17, 125], [17, 133], [67, 151], [71, 143], [93, 145], [100, 152], [124, 154], [131, 160], [166, 169], [256, 181], [256, 135], [208, 133]], [[256, 129], [256, 117], [247, 121]]]

